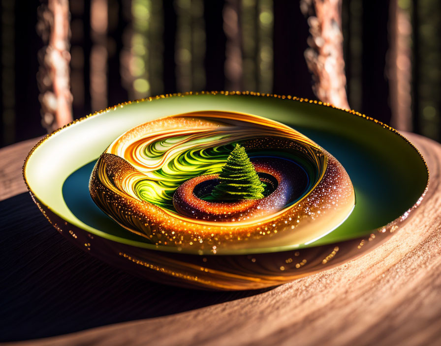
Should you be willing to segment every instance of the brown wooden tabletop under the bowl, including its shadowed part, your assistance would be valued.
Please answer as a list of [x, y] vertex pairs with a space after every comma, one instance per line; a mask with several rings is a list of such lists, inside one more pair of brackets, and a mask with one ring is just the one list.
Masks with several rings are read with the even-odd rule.
[[[3, 148], [0, 225], [9, 233], [0, 240], [0, 311], [6, 312], [0, 341], [441, 345], [441, 145], [408, 138], [429, 165], [430, 186], [407, 225], [359, 259], [257, 292], [147, 283], [84, 254], [51, 228], [25, 193], [21, 167], [36, 139]], [[53, 337], [35, 340], [42, 336]]]

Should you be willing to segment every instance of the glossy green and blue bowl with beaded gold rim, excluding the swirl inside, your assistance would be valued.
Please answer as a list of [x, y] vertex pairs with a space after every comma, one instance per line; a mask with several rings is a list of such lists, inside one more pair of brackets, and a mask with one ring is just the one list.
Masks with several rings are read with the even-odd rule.
[[[311, 138], [349, 174], [356, 195], [353, 212], [337, 229], [308, 243], [214, 255], [150, 244], [95, 206], [90, 173], [115, 138], [157, 117], [207, 110], [265, 116]], [[359, 256], [402, 226], [421, 202], [429, 178], [417, 149], [378, 120], [319, 101], [251, 92], [162, 95], [108, 108], [42, 139], [23, 173], [49, 222], [85, 251], [150, 280], [205, 289], [276, 286]]]

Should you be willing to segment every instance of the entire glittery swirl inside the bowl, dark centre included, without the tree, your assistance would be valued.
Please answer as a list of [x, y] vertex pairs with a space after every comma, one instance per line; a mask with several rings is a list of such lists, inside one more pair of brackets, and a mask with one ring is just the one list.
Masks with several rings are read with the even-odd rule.
[[[235, 147], [264, 187], [258, 198], [213, 193]], [[89, 189], [128, 231], [196, 254], [308, 244], [338, 227], [355, 204], [345, 169], [319, 145], [279, 122], [221, 111], [167, 116], [127, 131], [99, 157]]]

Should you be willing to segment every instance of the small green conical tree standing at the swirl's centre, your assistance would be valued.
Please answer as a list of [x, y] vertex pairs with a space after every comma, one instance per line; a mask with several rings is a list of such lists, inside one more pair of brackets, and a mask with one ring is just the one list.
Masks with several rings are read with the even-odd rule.
[[263, 198], [264, 185], [260, 181], [245, 148], [233, 149], [219, 174], [221, 182], [211, 193], [212, 200], [257, 200]]

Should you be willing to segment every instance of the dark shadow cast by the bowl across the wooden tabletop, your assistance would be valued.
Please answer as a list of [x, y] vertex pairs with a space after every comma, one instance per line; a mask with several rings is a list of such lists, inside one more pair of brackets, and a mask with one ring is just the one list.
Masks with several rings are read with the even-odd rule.
[[28, 193], [0, 202], [0, 225], [1, 342], [176, 314], [268, 290], [197, 291], [126, 274], [67, 242]]

